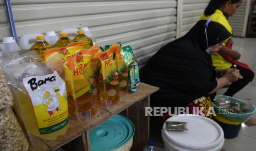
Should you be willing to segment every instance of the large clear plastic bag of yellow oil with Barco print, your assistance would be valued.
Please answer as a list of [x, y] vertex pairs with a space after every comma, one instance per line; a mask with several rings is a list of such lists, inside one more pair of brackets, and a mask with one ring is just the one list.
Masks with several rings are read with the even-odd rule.
[[14, 109], [23, 121], [31, 143], [34, 137], [55, 140], [68, 130], [66, 84], [54, 68], [39, 62], [30, 51], [1, 62], [14, 94]]

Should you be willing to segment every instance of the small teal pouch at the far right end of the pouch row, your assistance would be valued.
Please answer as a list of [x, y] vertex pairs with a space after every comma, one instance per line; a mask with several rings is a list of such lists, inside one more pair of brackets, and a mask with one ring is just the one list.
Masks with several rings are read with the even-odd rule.
[[140, 85], [140, 80], [139, 80], [139, 66], [137, 61], [134, 61], [133, 63], [130, 64], [129, 68], [129, 88], [130, 92], [134, 93], [137, 91], [137, 88]]

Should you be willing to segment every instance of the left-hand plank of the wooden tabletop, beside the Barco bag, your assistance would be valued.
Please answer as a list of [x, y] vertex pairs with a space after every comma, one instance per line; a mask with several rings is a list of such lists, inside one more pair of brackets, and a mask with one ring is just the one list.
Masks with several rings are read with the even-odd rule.
[[83, 123], [79, 123], [77, 120], [70, 119], [69, 129], [65, 135], [57, 137], [57, 139], [54, 141], [43, 140], [43, 142], [48, 147], [55, 150], [63, 146], [64, 144], [67, 144], [68, 142], [74, 140], [75, 138], [81, 136], [84, 131], [91, 129], [91, 126], [96, 126], [97, 124], [103, 123], [109, 116], [110, 113], [108, 113], [104, 109], [98, 108], [97, 114]]

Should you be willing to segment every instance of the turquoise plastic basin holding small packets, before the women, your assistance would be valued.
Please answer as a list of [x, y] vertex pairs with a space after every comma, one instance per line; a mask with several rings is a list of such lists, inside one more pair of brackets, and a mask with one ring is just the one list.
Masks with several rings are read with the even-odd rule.
[[[242, 101], [242, 100], [239, 100], [238, 98], [225, 96], [225, 95], [217, 95], [215, 98], [216, 99], [217, 98], [228, 98], [231, 102], [241, 102], [241, 103], [247, 103], [248, 104], [248, 102], [246, 102], [246, 101]], [[221, 109], [221, 108], [217, 107], [213, 102], [211, 104], [213, 104], [214, 110], [217, 114], [221, 114], [222, 117], [225, 117], [225, 118], [227, 118], [229, 120], [232, 120], [232, 121], [238, 121], [238, 122], [246, 121], [250, 117], [250, 115], [252, 115], [254, 112], [256, 112], [256, 107], [255, 106], [253, 106], [253, 111], [252, 112], [244, 113], [244, 114], [238, 114], [238, 113], [231, 113], [231, 112], [225, 111], [224, 109]]]

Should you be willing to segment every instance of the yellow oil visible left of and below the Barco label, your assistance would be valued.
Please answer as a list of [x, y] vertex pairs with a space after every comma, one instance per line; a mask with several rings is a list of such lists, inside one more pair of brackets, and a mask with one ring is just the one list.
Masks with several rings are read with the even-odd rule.
[[23, 120], [23, 123], [26, 127], [26, 130], [37, 137], [42, 138], [43, 140], [55, 140], [58, 136], [64, 135], [69, 127], [69, 124], [64, 126], [62, 129], [47, 133], [47, 134], [40, 134], [39, 127], [37, 126], [37, 121], [35, 117], [34, 108], [32, 106], [32, 102], [30, 101], [29, 94], [27, 92], [15, 91], [15, 96], [17, 96], [17, 106], [19, 108], [19, 115]]

